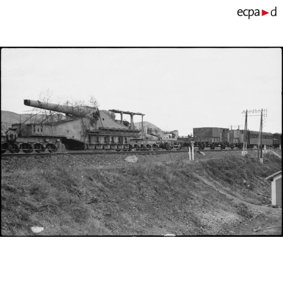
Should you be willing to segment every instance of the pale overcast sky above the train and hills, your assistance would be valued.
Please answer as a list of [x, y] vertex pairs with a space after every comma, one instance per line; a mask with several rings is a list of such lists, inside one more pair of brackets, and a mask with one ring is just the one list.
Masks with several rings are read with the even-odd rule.
[[[100, 110], [144, 113], [145, 121], [187, 135], [194, 127], [243, 127], [243, 110], [264, 108], [263, 131], [281, 132], [279, 48], [2, 49], [1, 55], [1, 110], [26, 113], [23, 99], [40, 94], [54, 103], [93, 95]], [[248, 117], [250, 130], [259, 127], [259, 116]]]

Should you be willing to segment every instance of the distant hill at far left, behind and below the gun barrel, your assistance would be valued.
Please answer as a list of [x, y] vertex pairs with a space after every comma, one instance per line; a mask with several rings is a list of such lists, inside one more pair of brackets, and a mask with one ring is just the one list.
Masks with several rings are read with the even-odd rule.
[[[17, 123], [40, 123], [45, 120], [46, 115], [44, 114], [34, 114], [34, 113], [27, 113], [27, 114], [18, 114], [11, 111], [1, 111], [1, 129], [7, 130], [11, 127], [12, 124]], [[48, 117], [48, 119], [53, 119], [54, 122], [58, 121], [58, 115], [54, 114]], [[62, 120], [66, 119], [62, 116]]]

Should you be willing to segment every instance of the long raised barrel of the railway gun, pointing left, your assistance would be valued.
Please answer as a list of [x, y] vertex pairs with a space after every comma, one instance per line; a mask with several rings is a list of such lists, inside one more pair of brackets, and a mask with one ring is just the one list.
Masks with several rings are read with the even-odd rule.
[[29, 100], [24, 99], [24, 104], [30, 107], [36, 107], [41, 109], [46, 109], [50, 111], [56, 111], [60, 113], [70, 114], [78, 117], [84, 117], [88, 114], [98, 114], [99, 111], [95, 107], [90, 106], [67, 106], [67, 105], [60, 105], [60, 104], [54, 104], [49, 102], [42, 102], [39, 100]]

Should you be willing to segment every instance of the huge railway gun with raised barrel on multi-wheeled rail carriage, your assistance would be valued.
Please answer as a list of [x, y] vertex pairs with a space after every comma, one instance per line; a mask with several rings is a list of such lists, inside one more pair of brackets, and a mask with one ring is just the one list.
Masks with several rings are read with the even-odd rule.
[[[137, 129], [133, 116], [143, 117], [145, 114], [120, 111], [98, 110], [89, 106], [68, 106], [25, 99], [24, 104], [33, 108], [55, 111], [65, 114], [65, 119], [56, 122], [15, 123], [1, 132], [1, 153], [10, 151], [24, 153], [64, 152], [65, 150], [114, 150], [114, 151], [146, 151], [180, 149], [176, 136], [149, 137], [144, 128]], [[121, 119], [116, 120], [120, 114]], [[130, 116], [130, 122], [123, 120]]]

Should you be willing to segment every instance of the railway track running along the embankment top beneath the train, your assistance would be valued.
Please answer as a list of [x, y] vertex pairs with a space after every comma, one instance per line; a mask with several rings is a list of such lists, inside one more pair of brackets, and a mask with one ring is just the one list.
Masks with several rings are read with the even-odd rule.
[[[249, 149], [249, 151], [253, 151], [257, 149]], [[195, 150], [197, 153], [199, 150]], [[234, 152], [234, 151], [242, 151], [240, 149], [234, 150], [202, 150], [201, 152]], [[124, 155], [133, 155], [133, 154], [141, 154], [141, 155], [150, 155], [150, 154], [168, 154], [168, 153], [182, 153], [189, 152], [189, 150], [158, 150], [158, 151], [67, 151], [67, 152], [32, 152], [32, 153], [4, 153], [1, 154], [1, 159], [8, 159], [11, 157], [31, 157], [31, 156], [41, 156], [48, 157], [54, 155], [103, 155], [103, 154], [124, 154]]]

